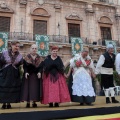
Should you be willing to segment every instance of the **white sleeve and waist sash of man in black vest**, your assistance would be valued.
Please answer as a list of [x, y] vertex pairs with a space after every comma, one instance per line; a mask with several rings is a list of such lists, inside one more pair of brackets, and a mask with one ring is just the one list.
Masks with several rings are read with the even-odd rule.
[[105, 57], [103, 55], [101, 55], [99, 60], [98, 60], [97, 65], [96, 65], [95, 74], [108, 74], [108, 75], [112, 75], [113, 74], [113, 68], [102, 67], [104, 62], [105, 62]]

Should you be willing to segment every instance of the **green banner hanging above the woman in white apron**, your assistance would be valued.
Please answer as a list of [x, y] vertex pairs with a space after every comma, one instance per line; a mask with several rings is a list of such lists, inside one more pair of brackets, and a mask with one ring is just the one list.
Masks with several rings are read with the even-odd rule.
[[83, 50], [83, 41], [79, 37], [71, 37], [72, 55], [75, 55]]

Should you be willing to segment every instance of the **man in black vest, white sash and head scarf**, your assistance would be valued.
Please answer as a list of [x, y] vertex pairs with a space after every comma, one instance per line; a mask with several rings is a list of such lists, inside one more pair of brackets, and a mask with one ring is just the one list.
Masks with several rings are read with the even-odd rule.
[[113, 82], [113, 69], [115, 63], [115, 54], [113, 53], [114, 47], [112, 44], [107, 45], [107, 51], [100, 56], [96, 65], [96, 74], [101, 74], [101, 85], [105, 93], [106, 103], [119, 103], [115, 99], [114, 82]]

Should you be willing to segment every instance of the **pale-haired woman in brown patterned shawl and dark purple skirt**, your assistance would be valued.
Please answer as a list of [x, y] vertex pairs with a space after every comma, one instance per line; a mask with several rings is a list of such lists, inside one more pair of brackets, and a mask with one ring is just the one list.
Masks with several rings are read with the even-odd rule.
[[33, 44], [30, 53], [25, 56], [23, 61], [24, 77], [21, 101], [27, 101], [27, 108], [30, 107], [30, 101], [33, 102], [32, 107], [37, 107], [36, 102], [42, 98], [41, 62], [42, 57], [37, 54], [37, 45]]

